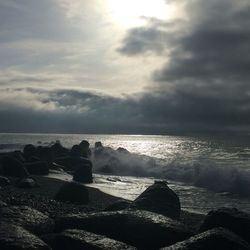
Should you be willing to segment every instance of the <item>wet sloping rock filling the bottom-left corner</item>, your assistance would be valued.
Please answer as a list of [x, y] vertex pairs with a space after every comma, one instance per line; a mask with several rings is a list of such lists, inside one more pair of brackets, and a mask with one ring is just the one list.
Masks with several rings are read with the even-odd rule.
[[20, 226], [0, 223], [0, 249], [49, 250], [45, 242]]

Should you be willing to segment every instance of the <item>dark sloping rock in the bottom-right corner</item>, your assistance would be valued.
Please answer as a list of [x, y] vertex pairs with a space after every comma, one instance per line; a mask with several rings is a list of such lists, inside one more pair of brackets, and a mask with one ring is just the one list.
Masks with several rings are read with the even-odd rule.
[[249, 244], [236, 234], [223, 229], [214, 228], [195, 235], [188, 240], [178, 242], [161, 250], [249, 250]]

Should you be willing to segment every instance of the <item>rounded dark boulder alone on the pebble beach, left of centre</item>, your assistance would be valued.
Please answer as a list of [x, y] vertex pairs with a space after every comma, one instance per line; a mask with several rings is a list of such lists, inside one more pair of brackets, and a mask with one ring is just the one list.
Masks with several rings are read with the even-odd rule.
[[55, 195], [55, 200], [86, 204], [89, 201], [88, 189], [76, 182], [65, 183]]

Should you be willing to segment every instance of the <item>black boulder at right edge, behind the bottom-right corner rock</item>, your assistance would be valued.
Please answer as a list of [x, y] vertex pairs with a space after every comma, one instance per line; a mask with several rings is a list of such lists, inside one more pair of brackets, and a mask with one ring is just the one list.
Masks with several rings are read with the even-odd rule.
[[220, 208], [210, 211], [200, 230], [206, 231], [214, 227], [224, 227], [238, 234], [250, 243], [250, 214], [236, 208]]

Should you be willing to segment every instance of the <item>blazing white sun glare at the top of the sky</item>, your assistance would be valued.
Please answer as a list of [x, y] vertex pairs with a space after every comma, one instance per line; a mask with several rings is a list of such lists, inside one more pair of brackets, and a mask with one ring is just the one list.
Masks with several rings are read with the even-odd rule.
[[165, 0], [109, 0], [108, 5], [114, 21], [125, 27], [141, 24], [142, 17], [166, 19], [168, 15]]

